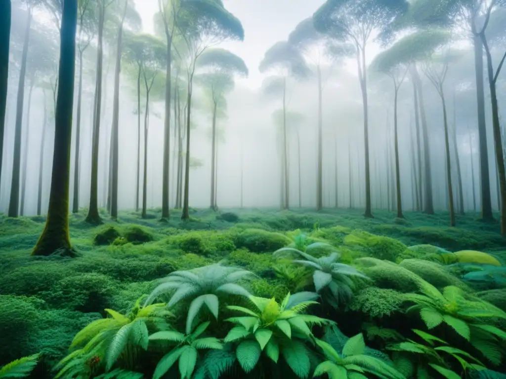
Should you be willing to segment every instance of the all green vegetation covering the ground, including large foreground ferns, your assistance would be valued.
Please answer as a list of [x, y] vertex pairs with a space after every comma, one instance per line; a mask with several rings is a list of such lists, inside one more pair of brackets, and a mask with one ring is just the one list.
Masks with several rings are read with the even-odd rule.
[[409, 212], [410, 225], [387, 212], [227, 212], [238, 217], [124, 212], [98, 227], [78, 213], [76, 258], [31, 257], [43, 223], [0, 216], [0, 377], [506, 371], [506, 248], [473, 215], [442, 228]]

